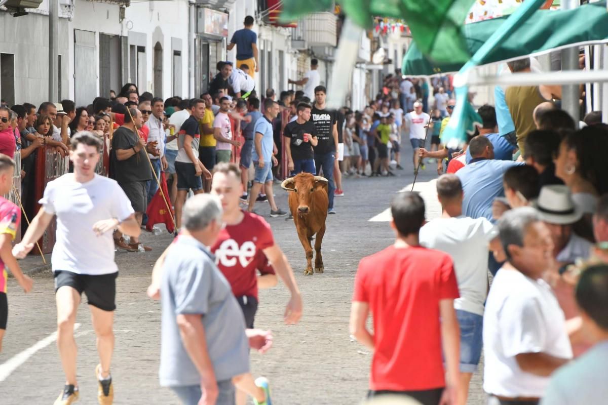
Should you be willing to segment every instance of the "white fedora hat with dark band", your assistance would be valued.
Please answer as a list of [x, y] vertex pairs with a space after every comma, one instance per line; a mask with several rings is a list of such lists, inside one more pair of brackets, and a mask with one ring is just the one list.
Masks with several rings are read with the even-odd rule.
[[564, 185], [541, 188], [541, 194], [533, 204], [544, 222], [570, 225], [582, 217], [582, 211], [572, 200], [570, 189]]

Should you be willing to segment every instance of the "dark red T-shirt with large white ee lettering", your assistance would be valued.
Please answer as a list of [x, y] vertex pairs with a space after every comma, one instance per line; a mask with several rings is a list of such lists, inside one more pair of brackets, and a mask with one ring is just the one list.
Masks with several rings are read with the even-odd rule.
[[252, 213], [245, 212], [241, 223], [221, 230], [211, 251], [235, 297], [258, 297], [256, 255], [273, 245], [270, 225]]

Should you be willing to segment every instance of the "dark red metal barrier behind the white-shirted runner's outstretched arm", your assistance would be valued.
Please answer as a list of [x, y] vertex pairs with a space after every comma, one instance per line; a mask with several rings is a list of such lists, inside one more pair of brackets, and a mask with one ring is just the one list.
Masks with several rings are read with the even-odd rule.
[[[36, 153], [36, 161], [34, 165], [34, 212], [38, 213], [41, 205], [38, 203], [44, 196], [44, 189], [46, 185], [52, 180], [61, 177], [62, 175], [69, 172], [69, 158], [62, 157], [57, 149], [51, 146], [43, 146], [38, 149]], [[53, 251], [55, 246], [55, 231], [57, 230], [57, 219], [54, 217], [50, 222], [50, 225], [44, 231], [43, 236], [40, 238], [40, 248], [42, 253], [47, 254]], [[30, 254], [40, 254], [38, 248], [32, 249]]]

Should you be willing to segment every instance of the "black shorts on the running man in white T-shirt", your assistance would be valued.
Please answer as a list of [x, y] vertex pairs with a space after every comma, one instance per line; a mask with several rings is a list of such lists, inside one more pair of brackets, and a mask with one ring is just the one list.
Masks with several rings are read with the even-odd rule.
[[93, 305], [103, 311], [116, 310], [116, 273], [91, 276], [90, 274], [76, 274], [71, 271], [55, 270], [55, 293], [61, 287], [68, 286], [82, 294], [86, 294], [87, 304]]

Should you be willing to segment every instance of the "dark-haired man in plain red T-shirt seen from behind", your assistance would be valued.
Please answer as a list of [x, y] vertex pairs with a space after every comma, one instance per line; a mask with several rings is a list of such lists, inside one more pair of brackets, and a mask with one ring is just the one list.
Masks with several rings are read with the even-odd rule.
[[[395, 243], [364, 257], [354, 281], [351, 334], [373, 350], [368, 396], [455, 404], [460, 335], [454, 265], [448, 254], [419, 245], [424, 201], [418, 194], [397, 194], [391, 211]], [[373, 334], [366, 327], [370, 311]]]

